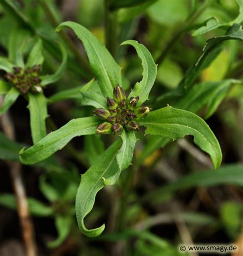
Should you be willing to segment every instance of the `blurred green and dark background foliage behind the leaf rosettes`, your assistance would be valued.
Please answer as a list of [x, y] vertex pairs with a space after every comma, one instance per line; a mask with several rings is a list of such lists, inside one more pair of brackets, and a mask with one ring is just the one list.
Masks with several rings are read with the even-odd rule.
[[[45, 95], [51, 99], [54, 93], [81, 86], [92, 78], [80, 41], [70, 31], [55, 33], [55, 27], [62, 21], [75, 21], [105, 43], [104, 19], [106, 15], [113, 15], [117, 42], [133, 38], [143, 43], [158, 64], [150, 106], [153, 109], [167, 104], [173, 106], [176, 97], [170, 97], [170, 93], [177, 88], [189, 67], [195, 64], [206, 41], [224, 35], [227, 26], [197, 36], [192, 34], [212, 18], [223, 24], [234, 21], [239, 12], [243, 12], [243, 4], [239, 8], [239, 2], [111, 1], [110, 13], [107, 14], [100, 0], [1, 0], [0, 53], [8, 56], [10, 42], [14, 42], [12, 47], [19, 47], [27, 38], [41, 38], [45, 56], [43, 72], [49, 74], [56, 71], [62, 60], [56, 42], [64, 44], [68, 50], [67, 69], [61, 80], [45, 90]], [[206, 88], [229, 78], [235, 80], [225, 89], [208, 92], [216, 93], [221, 103], [213, 115], [208, 116], [207, 123], [220, 143], [222, 167], [213, 171], [208, 156], [193, 146], [191, 137], [160, 148], [155, 146], [151, 137], [139, 134], [135, 153], [140, 159], [140, 167], [129, 194], [128, 209], [123, 216], [126, 225], [122, 229], [116, 228], [116, 220], [123, 215], [123, 212], [117, 212], [117, 199], [126, 186], [128, 171], [123, 173], [116, 186], [98, 194], [95, 207], [86, 218], [88, 227], [104, 221], [108, 223], [104, 234], [95, 239], [86, 238], [78, 230], [75, 220], [74, 203], [80, 173], [95, 162], [112, 137], [108, 140], [93, 135], [86, 139], [77, 138], [55, 157], [34, 166], [23, 166], [39, 255], [167, 256], [179, 255], [178, 245], [188, 242], [242, 246], [242, 49], [240, 41], [225, 42], [210, 65], [200, 72], [193, 86], [192, 95], [195, 95], [202, 86]], [[23, 49], [24, 54], [28, 51], [28, 48]], [[141, 79], [140, 60], [130, 47], [119, 48], [115, 57], [123, 67], [123, 87], [129, 90]], [[4, 79], [3, 71], [0, 75]], [[92, 113], [90, 107], [80, 106], [79, 94], [76, 94], [71, 100], [55, 102], [53, 99], [49, 104], [49, 132], [74, 117]], [[204, 94], [199, 94], [196, 101], [202, 97]], [[202, 117], [207, 104], [206, 101], [204, 107], [196, 111]], [[18, 161], [18, 151], [23, 145], [32, 143], [26, 105], [24, 99], [18, 99], [10, 110], [17, 142], [0, 133], [2, 160]], [[13, 255], [11, 248], [18, 248], [14, 255], [23, 255], [17, 213], [13, 211], [16, 201], [5, 161], [0, 161], [0, 168], [0, 252]]]

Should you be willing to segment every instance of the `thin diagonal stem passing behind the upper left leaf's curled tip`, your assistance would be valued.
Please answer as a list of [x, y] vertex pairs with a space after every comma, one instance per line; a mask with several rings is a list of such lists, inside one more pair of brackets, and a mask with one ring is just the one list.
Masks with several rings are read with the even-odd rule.
[[[59, 23], [56, 20], [55, 16], [53, 15], [49, 5], [46, 3], [45, 0], [38, 0], [40, 6], [42, 6], [47, 18], [49, 19], [49, 22], [51, 23], [51, 25], [56, 28]], [[92, 71], [90, 69], [89, 64], [87, 63], [85, 57], [80, 53], [79, 49], [76, 47], [76, 45], [73, 43], [73, 41], [71, 40], [71, 38], [69, 37], [69, 35], [61, 30], [60, 35], [63, 37], [63, 40], [66, 42], [66, 44], [69, 46], [69, 48], [72, 50], [72, 52], [74, 53], [74, 55], [77, 57], [78, 61], [80, 62], [80, 64], [83, 66], [83, 68], [85, 68], [85, 70], [89, 73], [92, 74]]]

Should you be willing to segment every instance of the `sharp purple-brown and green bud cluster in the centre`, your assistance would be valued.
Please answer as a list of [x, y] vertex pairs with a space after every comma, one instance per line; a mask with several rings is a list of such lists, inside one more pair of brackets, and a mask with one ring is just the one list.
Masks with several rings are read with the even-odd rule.
[[116, 134], [123, 129], [139, 131], [139, 124], [135, 121], [145, 117], [151, 108], [137, 107], [139, 97], [131, 97], [129, 100], [122, 87], [117, 85], [113, 91], [113, 99], [107, 97], [107, 109], [98, 108], [94, 114], [106, 122], [97, 127], [97, 134]]

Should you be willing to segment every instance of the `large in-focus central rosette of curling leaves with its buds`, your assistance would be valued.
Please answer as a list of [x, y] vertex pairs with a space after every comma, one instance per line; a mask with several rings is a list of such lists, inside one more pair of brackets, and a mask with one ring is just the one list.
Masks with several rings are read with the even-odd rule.
[[146, 134], [171, 140], [186, 135], [194, 136], [195, 144], [210, 154], [214, 168], [220, 166], [222, 156], [215, 135], [206, 122], [196, 114], [171, 106], [151, 111], [149, 106], [143, 105], [148, 100], [157, 73], [157, 65], [144, 45], [133, 40], [122, 43], [135, 48], [143, 65], [143, 79], [126, 94], [122, 84], [121, 68], [104, 45], [85, 27], [73, 22], [62, 23], [56, 30], [60, 31], [65, 27], [71, 28], [82, 40], [98, 82], [99, 92], [92, 89], [81, 90], [82, 105], [95, 107], [96, 116], [71, 120], [34, 146], [27, 150], [23, 149], [20, 152], [20, 159], [24, 164], [35, 164], [62, 149], [76, 136], [120, 133], [120, 136], [114, 135], [117, 140], [100, 154], [96, 162], [82, 175], [77, 190], [78, 226], [88, 237], [97, 237], [104, 231], [105, 224], [87, 229], [84, 219], [93, 208], [97, 192], [106, 185], [115, 184], [121, 171], [130, 166], [139, 126], [146, 127]]

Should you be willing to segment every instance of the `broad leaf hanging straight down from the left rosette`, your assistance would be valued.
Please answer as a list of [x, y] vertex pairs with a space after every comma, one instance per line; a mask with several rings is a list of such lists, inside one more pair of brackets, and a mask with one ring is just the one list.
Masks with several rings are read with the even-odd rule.
[[46, 136], [47, 99], [43, 93], [28, 93], [30, 111], [30, 128], [33, 143]]

